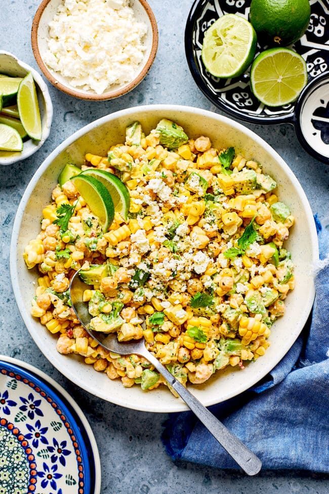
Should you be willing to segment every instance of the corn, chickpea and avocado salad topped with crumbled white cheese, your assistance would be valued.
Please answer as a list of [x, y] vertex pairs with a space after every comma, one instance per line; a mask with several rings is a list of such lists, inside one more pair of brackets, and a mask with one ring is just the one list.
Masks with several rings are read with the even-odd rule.
[[[85, 276], [97, 273], [84, 293], [95, 330], [116, 331], [120, 341], [144, 336], [184, 385], [204, 383], [226, 366], [243, 369], [265, 354], [294, 288], [283, 247], [294, 217], [261, 164], [232, 147], [189, 139], [165, 119], [146, 136], [133, 125], [135, 138], [130, 126], [108, 157], [87, 154], [81, 164], [126, 184], [127, 220], [116, 212], [102, 232], [73, 183], [57, 185], [41, 232], [24, 252], [27, 267], [38, 270], [31, 314], [58, 335], [58, 352], [81, 355], [125, 387], [166, 385], [144, 358], [104, 350], [79, 324], [68, 288], [82, 268]], [[75, 205], [65, 230], [56, 224], [63, 204]]]

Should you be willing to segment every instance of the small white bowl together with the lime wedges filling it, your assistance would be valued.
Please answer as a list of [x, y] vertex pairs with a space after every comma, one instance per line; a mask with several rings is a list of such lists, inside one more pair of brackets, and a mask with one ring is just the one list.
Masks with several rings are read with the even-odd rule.
[[0, 165], [31, 156], [50, 133], [53, 105], [40, 75], [0, 51]]

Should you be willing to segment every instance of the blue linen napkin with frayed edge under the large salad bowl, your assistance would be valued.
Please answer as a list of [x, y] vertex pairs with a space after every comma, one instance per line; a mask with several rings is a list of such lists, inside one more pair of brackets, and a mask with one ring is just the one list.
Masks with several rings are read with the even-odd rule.
[[[311, 324], [261, 383], [210, 407], [263, 470], [329, 473], [329, 231], [314, 219], [320, 260]], [[164, 426], [162, 441], [174, 460], [239, 468], [192, 412], [175, 413]]]

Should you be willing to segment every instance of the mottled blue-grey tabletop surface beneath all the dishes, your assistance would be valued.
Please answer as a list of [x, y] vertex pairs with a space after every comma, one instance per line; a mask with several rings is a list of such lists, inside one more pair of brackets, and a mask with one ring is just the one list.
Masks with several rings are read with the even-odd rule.
[[[30, 45], [37, 0], [1, 0], [0, 49], [16, 54], [38, 70]], [[183, 462], [173, 462], [160, 441], [166, 414], [121, 408], [76, 388], [40, 354], [19, 315], [11, 289], [9, 246], [21, 196], [32, 174], [50, 152], [80, 127], [129, 106], [178, 103], [213, 109], [196, 87], [185, 59], [184, 28], [191, 0], [150, 0], [159, 29], [159, 49], [145, 80], [116, 100], [88, 103], [70, 98], [49, 84], [54, 104], [51, 135], [31, 158], [0, 167], [0, 353], [29, 362], [56, 379], [85, 411], [98, 443], [102, 463], [102, 494], [325, 494], [328, 478], [296, 471], [262, 472], [257, 478]], [[217, 110], [218, 111], [218, 110]], [[219, 111], [218, 111], [219, 112]], [[313, 212], [328, 214], [329, 167], [301, 148], [290, 125], [255, 126], [252, 130], [272, 145], [300, 180]]]

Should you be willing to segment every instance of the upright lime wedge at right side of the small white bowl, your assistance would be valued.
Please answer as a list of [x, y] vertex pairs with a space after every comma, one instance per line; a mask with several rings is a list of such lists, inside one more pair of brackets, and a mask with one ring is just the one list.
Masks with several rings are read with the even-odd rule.
[[[0, 79], [1, 84], [1, 79]], [[26, 133], [31, 139], [41, 139], [42, 127], [36, 90], [31, 72], [22, 80], [17, 92], [19, 117]]]

